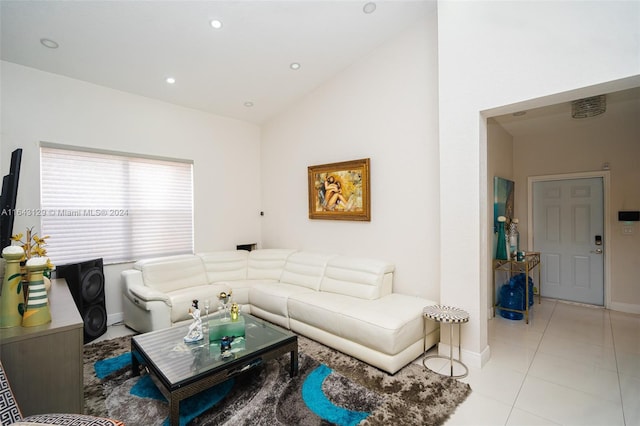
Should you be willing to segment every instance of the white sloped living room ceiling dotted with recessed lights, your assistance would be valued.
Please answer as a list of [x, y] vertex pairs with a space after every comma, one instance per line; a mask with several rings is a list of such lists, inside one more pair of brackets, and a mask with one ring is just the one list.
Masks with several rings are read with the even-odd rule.
[[436, 9], [387, 0], [366, 14], [366, 3], [1, 0], [1, 58], [261, 123]]

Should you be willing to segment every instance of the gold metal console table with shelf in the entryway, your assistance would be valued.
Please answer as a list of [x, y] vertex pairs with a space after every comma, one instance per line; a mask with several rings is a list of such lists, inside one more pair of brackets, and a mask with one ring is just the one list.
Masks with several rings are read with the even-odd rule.
[[[516, 274], [525, 274], [525, 289], [524, 289], [524, 309], [512, 309], [500, 306], [500, 302], [498, 300], [498, 295], [496, 293], [496, 272], [503, 271], [507, 272], [509, 278], [513, 277]], [[534, 281], [534, 295], [538, 295], [538, 304], [540, 304], [540, 293], [541, 293], [541, 283], [540, 283], [540, 253], [539, 252], [527, 252], [524, 256], [524, 260], [502, 260], [502, 259], [494, 259], [493, 260], [493, 316], [496, 315], [497, 309], [502, 309], [504, 311], [510, 312], [520, 312], [524, 314], [525, 320], [527, 324], [529, 324], [529, 277], [532, 277], [536, 271], [536, 275], [538, 280]]]

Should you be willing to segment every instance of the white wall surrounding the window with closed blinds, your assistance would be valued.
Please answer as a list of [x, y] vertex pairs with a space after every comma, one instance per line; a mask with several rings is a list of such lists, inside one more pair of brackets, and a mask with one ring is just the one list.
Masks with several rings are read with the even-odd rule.
[[[19, 209], [40, 205], [40, 141], [192, 159], [195, 250], [260, 243], [257, 126], [9, 62], [1, 78], [0, 163], [4, 175], [11, 152], [23, 149]], [[38, 230], [39, 218], [16, 217], [14, 233], [31, 226]], [[122, 312], [125, 267], [105, 267], [110, 320]]]

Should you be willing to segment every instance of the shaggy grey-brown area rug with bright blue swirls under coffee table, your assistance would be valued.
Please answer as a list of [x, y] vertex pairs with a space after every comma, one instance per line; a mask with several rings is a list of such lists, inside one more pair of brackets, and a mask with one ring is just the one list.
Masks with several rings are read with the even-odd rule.
[[[128, 426], [168, 425], [168, 404], [148, 376], [132, 377], [130, 339], [85, 346], [85, 413]], [[181, 425], [440, 425], [471, 392], [467, 384], [411, 364], [391, 376], [299, 338], [289, 355], [180, 404]]]

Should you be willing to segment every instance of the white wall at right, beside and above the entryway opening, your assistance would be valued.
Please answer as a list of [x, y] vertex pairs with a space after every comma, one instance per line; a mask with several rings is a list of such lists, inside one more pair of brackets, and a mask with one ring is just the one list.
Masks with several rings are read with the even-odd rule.
[[579, 88], [595, 95], [589, 86], [640, 74], [639, 20], [638, 2], [438, 3], [441, 302], [471, 314], [462, 338], [472, 365], [489, 356], [481, 112]]

